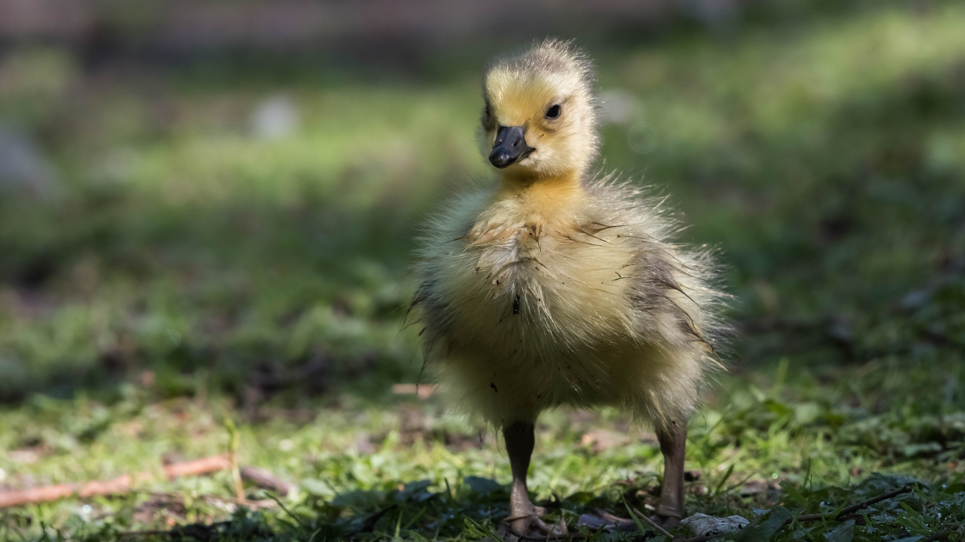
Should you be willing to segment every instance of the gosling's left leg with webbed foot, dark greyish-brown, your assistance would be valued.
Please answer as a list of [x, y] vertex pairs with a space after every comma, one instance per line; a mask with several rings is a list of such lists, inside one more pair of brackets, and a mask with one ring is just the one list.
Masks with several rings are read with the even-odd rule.
[[557, 532], [542, 522], [537, 516], [537, 507], [530, 502], [529, 490], [526, 487], [526, 472], [530, 468], [530, 457], [536, 444], [536, 434], [533, 423], [516, 421], [503, 427], [503, 438], [506, 439], [506, 453], [510, 456], [510, 470], [512, 484], [510, 485], [510, 516], [507, 523], [516, 532], [527, 535], [537, 534], [565, 534]]

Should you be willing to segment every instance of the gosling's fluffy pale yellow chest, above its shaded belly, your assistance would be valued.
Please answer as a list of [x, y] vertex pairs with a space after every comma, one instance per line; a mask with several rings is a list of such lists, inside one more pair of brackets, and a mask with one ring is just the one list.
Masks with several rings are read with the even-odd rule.
[[636, 257], [626, 241], [593, 222], [477, 226], [442, 266], [454, 324], [542, 344], [628, 335]]

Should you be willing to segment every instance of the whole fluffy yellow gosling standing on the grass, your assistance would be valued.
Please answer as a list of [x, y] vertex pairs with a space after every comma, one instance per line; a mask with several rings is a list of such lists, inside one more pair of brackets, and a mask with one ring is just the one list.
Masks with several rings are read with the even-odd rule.
[[665, 466], [656, 513], [683, 517], [687, 420], [723, 329], [708, 252], [671, 241], [662, 201], [591, 172], [594, 84], [563, 41], [492, 64], [483, 145], [498, 181], [448, 204], [418, 252], [427, 366], [455, 405], [502, 429], [507, 524], [523, 535], [565, 532], [539, 520], [526, 487], [534, 424], [560, 405], [651, 423]]

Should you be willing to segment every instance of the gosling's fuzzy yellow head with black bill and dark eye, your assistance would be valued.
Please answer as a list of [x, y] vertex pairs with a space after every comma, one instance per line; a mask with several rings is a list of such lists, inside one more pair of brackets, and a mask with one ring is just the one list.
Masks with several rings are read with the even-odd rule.
[[580, 175], [598, 147], [593, 67], [565, 41], [497, 61], [483, 81], [489, 163], [519, 178]]

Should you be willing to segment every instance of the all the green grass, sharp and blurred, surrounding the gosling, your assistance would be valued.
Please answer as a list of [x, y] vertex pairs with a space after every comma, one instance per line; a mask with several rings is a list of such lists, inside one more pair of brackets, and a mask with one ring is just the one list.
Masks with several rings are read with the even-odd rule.
[[[929, 6], [591, 51], [626, 106], [603, 126], [606, 167], [672, 194], [685, 240], [728, 266], [741, 335], [691, 424], [687, 510], [751, 519], [742, 539], [961, 536], [965, 10]], [[59, 183], [0, 198], [0, 485], [159, 471], [223, 451], [230, 418], [242, 463], [296, 489], [249, 511], [227, 473], [158, 477], [4, 509], [4, 537], [479, 540], [498, 526], [498, 439], [390, 393], [419, 377], [400, 326], [411, 238], [486, 171], [477, 66], [447, 58], [444, 75], [402, 82], [311, 63], [276, 79], [89, 72], [69, 50], [8, 52], [0, 117], [41, 142]], [[259, 137], [252, 112], [278, 93], [298, 125]], [[654, 502], [661, 469], [620, 413], [547, 413], [531, 489], [573, 525]], [[906, 483], [864, 515], [769, 527]]]

